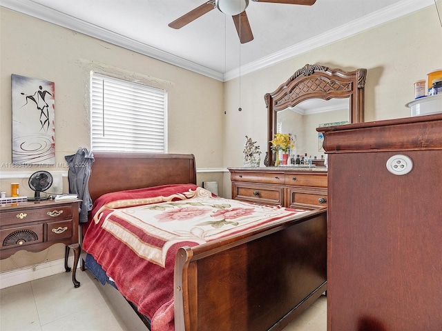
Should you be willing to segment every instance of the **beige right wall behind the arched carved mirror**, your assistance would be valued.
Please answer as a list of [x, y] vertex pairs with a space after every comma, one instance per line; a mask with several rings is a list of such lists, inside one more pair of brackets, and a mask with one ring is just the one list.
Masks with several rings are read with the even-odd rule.
[[[224, 121], [224, 165], [240, 167], [245, 136], [267, 151], [267, 108], [264, 95], [273, 92], [306, 63], [329, 68], [367, 68], [365, 121], [409, 117], [405, 104], [414, 99], [414, 81], [442, 68], [442, 28], [430, 6], [353, 37], [228, 81]], [[239, 98], [240, 92], [240, 98]], [[238, 112], [241, 99], [242, 111]], [[309, 153], [309, 152], [307, 152]], [[261, 162], [264, 157], [261, 157]], [[228, 174], [224, 183], [228, 183]]]

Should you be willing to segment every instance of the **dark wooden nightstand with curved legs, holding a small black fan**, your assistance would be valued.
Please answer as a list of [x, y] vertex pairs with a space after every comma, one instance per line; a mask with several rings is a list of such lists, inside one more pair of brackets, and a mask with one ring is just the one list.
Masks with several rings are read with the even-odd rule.
[[0, 205], [0, 259], [19, 250], [39, 252], [55, 243], [66, 245], [65, 268], [69, 248], [74, 250], [73, 283], [79, 260], [79, 201], [28, 201]]

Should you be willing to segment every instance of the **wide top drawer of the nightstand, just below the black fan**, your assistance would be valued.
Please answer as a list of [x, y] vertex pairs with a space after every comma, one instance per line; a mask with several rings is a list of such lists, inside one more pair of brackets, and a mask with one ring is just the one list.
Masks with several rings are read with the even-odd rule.
[[72, 219], [72, 207], [70, 205], [53, 206], [48, 208], [17, 208], [13, 212], [1, 213], [1, 225], [15, 225], [42, 220]]

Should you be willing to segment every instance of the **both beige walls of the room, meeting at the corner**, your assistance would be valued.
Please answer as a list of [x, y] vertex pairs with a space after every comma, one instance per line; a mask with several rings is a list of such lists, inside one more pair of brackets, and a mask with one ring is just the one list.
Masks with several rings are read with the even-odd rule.
[[[73, 154], [80, 146], [89, 147], [88, 81], [90, 70], [97, 70], [136, 77], [166, 88], [169, 152], [195, 154], [198, 168], [227, 168], [242, 165], [246, 135], [258, 141], [264, 160], [267, 146], [264, 94], [276, 90], [306, 63], [345, 70], [367, 68], [366, 121], [409, 116], [410, 110], [404, 105], [414, 97], [414, 81], [442, 68], [441, 57], [438, 57], [442, 49], [442, 28], [433, 7], [245, 74], [241, 77], [240, 91], [238, 79], [221, 83], [4, 8], [0, 10], [0, 19], [0, 162], [6, 165], [0, 172], [17, 172], [17, 176], [25, 172], [8, 167], [11, 162], [11, 74], [55, 82], [56, 163], [63, 162], [64, 155]], [[238, 112], [239, 106], [242, 112]], [[67, 171], [66, 168], [49, 170]], [[219, 181], [222, 195], [230, 197], [229, 173], [198, 175], [199, 183], [212, 180]], [[1, 190], [10, 192], [10, 182], [9, 178], [1, 180]], [[26, 186], [25, 179], [23, 186]], [[66, 179], [64, 186], [66, 189]], [[1, 261], [0, 270], [23, 263], [32, 265], [40, 258], [59, 259], [64, 250], [52, 253], [38, 254], [35, 259], [21, 254], [17, 257], [21, 261]]]

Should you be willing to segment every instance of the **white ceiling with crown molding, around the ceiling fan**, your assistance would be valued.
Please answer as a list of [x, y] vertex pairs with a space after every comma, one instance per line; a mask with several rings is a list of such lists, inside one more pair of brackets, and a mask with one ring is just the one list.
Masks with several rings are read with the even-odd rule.
[[[1, 0], [44, 19], [221, 81], [372, 28], [434, 0], [250, 1], [254, 39], [241, 44], [231, 17], [211, 10], [180, 30], [168, 24], [204, 0]], [[240, 70], [239, 70], [240, 68]]]

